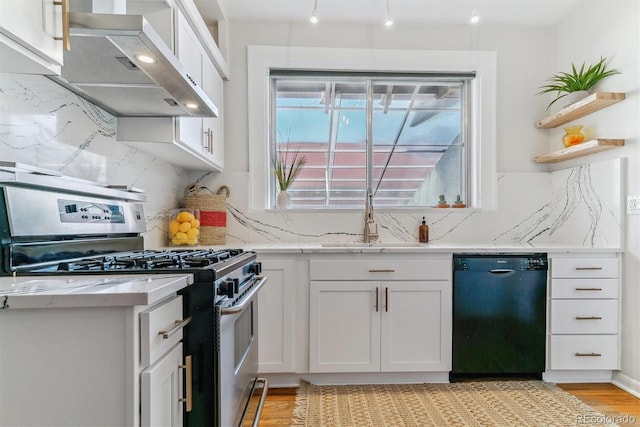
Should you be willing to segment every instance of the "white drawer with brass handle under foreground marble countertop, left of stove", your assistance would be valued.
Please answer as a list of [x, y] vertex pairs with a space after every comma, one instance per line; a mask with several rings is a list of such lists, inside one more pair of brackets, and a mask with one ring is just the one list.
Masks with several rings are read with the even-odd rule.
[[[140, 362], [150, 366], [182, 340], [182, 296], [140, 313]], [[176, 329], [174, 329], [176, 328]], [[174, 330], [164, 337], [164, 332]]]

